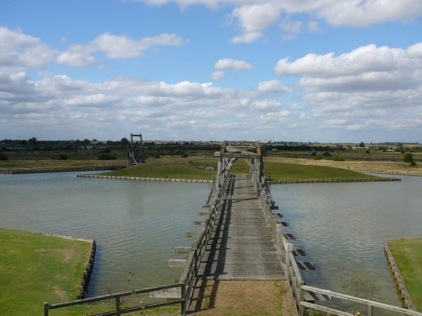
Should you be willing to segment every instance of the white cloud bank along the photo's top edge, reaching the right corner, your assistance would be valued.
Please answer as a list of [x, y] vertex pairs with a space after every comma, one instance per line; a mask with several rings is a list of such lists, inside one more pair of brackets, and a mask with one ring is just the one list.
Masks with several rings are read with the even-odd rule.
[[[370, 25], [390, 22], [408, 21], [422, 16], [420, 0], [136, 0], [146, 4], [163, 5], [170, 2], [181, 8], [192, 5], [203, 5], [210, 8], [235, 6], [231, 17], [235, 18], [243, 33], [231, 39], [232, 43], [251, 43], [263, 36], [264, 29], [279, 21], [282, 14], [298, 15], [300, 19], [318, 17], [330, 25], [348, 27], [368, 27]], [[290, 25], [281, 23], [287, 32], [285, 38], [295, 37], [302, 22], [292, 22]], [[319, 30], [316, 21], [307, 23], [310, 32]]]

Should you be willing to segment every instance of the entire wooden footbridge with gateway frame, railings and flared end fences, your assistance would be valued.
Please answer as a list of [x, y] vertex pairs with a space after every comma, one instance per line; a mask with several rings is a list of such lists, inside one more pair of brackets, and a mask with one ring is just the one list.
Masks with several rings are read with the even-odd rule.
[[[283, 216], [278, 213], [279, 208], [271, 197], [264, 177], [260, 146], [231, 146], [226, 143], [220, 152], [215, 153], [215, 157], [219, 157], [219, 162], [212, 190], [204, 206], [207, 211], [198, 213], [205, 218], [196, 221], [201, 229], [186, 234], [195, 236], [196, 241], [191, 246], [177, 247], [176, 253], [188, 254], [186, 259], [170, 260], [170, 265], [184, 265], [178, 283], [65, 303], [44, 303], [44, 316], [49, 315], [49, 310], [106, 300], [112, 300], [115, 309], [96, 315], [123, 315], [172, 304], [180, 304], [181, 315], [186, 315], [199, 279], [287, 279], [300, 316], [304, 315], [305, 307], [333, 315], [353, 316], [350, 312], [316, 304], [316, 301], [331, 298], [366, 305], [367, 313], [364, 315], [383, 315], [384, 310], [392, 310], [403, 315], [422, 316], [421, 312], [414, 310], [306, 286], [300, 270], [313, 269], [314, 263], [296, 260], [297, 256], [304, 256], [306, 252], [293, 249], [289, 239], [294, 239], [294, 235], [283, 232], [283, 227], [288, 223], [281, 220]], [[231, 166], [237, 159], [245, 159], [250, 166], [248, 176], [231, 175]], [[122, 306], [125, 296], [146, 293], [164, 300]], [[168, 301], [167, 298], [175, 299]], [[374, 308], [379, 308], [380, 313], [376, 314]]]

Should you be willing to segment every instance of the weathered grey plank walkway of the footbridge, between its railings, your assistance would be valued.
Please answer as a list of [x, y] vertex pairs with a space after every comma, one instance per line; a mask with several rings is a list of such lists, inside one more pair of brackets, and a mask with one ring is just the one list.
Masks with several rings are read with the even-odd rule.
[[286, 279], [260, 202], [248, 176], [231, 176], [198, 277]]

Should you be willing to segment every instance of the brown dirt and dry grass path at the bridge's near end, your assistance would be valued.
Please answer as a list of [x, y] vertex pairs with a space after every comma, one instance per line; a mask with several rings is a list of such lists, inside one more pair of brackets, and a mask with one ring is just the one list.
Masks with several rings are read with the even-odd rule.
[[287, 281], [203, 281], [191, 315], [298, 315]]

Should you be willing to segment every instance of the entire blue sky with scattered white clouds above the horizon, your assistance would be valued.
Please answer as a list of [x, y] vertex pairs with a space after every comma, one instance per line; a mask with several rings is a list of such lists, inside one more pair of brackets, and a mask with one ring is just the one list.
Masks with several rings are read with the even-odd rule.
[[0, 0], [0, 140], [422, 143], [421, 0]]

